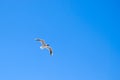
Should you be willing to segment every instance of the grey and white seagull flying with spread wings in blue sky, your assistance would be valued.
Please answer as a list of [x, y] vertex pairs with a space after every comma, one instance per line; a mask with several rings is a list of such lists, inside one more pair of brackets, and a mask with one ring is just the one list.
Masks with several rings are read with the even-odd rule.
[[46, 44], [43, 39], [36, 38], [35, 40], [41, 42], [41, 44], [42, 44], [42, 46], [40, 46], [41, 49], [48, 49], [50, 52], [50, 55], [51, 56], [53, 55], [52, 48], [50, 47], [49, 44]]

